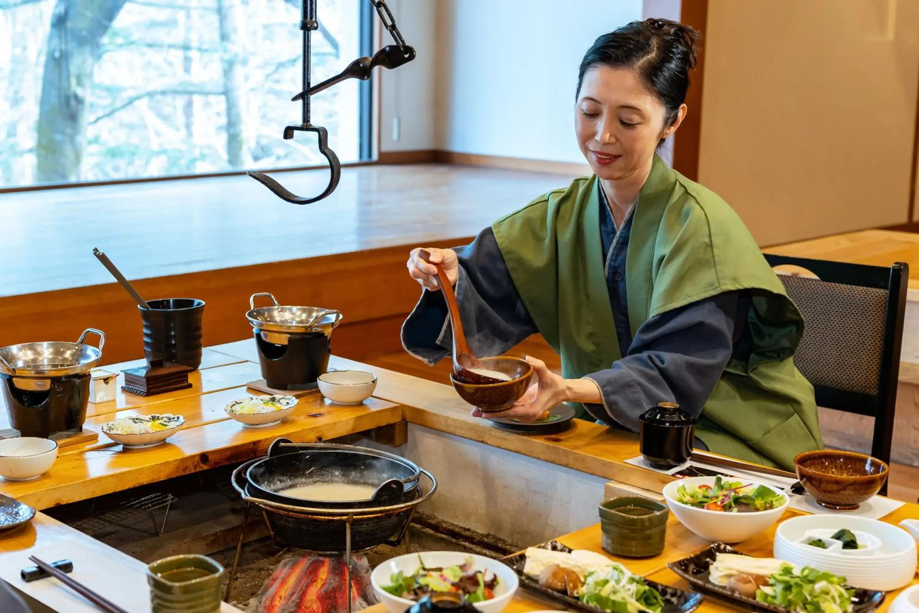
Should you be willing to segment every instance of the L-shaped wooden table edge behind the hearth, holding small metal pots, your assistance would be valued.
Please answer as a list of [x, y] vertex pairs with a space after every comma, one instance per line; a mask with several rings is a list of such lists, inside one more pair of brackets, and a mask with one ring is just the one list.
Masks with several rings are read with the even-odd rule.
[[[223, 412], [223, 406], [249, 393], [245, 384], [260, 377], [255, 360], [252, 340], [211, 347], [205, 350], [201, 369], [191, 375], [189, 390], [149, 398], [119, 392], [114, 401], [90, 404], [85, 425], [90, 429], [129, 414], [182, 414], [186, 423], [164, 445], [154, 448], [125, 450], [100, 434], [94, 445], [62, 449], [51, 470], [38, 479], [0, 482], [0, 493], [45, 509], [249, 460], [264, 454], [278, 437], [314, 442], [403, 422], [643, 489], [660, 490], [669, 481], [665, 475], [625, 463], [638, 455], [638, 439], [628, 432], [576, 420], [560, 435], [521, 436], [472, 417], [469, 405], [451, 386], [345, 358], [333, 357], [330, 367], [367, 370], [378, 377], [377, 390], [367, 403], [341, 406], [320, 395], [307, 396], [278, 426], [244, 428]], [[106, 369], [119, 371], [136, 365], [129, 362]]]

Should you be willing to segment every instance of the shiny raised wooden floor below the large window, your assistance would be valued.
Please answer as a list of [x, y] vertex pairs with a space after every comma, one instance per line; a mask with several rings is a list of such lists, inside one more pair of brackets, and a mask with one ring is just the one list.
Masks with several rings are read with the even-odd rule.
[[[277, 177], [310, 194], [322, 190], [327, 172]], [[305, 206], [247, 176], [0, 194], [0, 296], [108, 283], [93, 247], [136, 279], [471, 236], [570, 181], [459, 165], [369, 165], [343, 169], [332, 196]]]

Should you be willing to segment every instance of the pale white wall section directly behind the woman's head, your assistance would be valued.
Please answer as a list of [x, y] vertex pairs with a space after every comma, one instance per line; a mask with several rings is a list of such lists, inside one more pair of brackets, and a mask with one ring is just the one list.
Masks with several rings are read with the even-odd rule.
[[435, 147], [583, 163], [573, 136], [578, 64], [597, 36], [641, 19], [641, 0], [432, 4]]

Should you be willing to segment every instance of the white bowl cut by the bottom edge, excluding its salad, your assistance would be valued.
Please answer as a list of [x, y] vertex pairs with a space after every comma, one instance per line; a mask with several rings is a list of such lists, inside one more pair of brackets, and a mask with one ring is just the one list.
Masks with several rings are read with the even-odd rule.
[[382, 562], [370, 573], [370, 585], [373, 585], [373, 591], [376, 592], [380, 602], [386, 606], [390, 613], [404, 613], [414, 602], [406, 598], [392, 596], [382, 588], [382, 585], [390, 584], [390, 575], [402, 571], [405, 574], [414, 573], [418, 569], [418, 556], [425, 562], [425, 566], [446, 567], [454, 564], [462, 564], [467, 558], [472, 558], [473, 569], [477, 571], [486, 571], [486, 576], [492, 573], [498, 577], [498, 585], [494, 588], [494, 598], [485, 602], [473, 603], [482, 613], [501, 613], [514, 597], [518, 585], [516, 573], [506, 564], [486, 558], [481, 555], [471, 553], [462, 553], [460, 551], [423, 551], [419, 553], [407, 553], [405, 555], [392, 558]]

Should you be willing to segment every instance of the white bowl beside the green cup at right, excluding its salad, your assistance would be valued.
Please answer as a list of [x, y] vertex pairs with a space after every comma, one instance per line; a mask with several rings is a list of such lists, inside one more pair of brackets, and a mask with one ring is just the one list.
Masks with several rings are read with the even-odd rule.
[[680, 520], [680, 523], [703, 539], [718, 540], [729, 544], [739, 543], [769, 529], [778, 521], [779, 517], [782, 517], [786, 507], [789, 505], [789, 497], [781, 490], [772, 487], [768, 483], [747, 482], [746, 480], [743, 480], [744, 485], [751, 484], [754, 488], [759, 485], [766, 485], [777, 494], [782, 494], [785, 496], [785, 504], [768, 511], [755, 511], [753, 513], [724, 513], [682, 505], [676, 502], [676, 489], [680, 485], [689, 483], [694, 483], [697, 486], [702, 484], [714, 485], [715, 478], [690, 477], [667, 483], [664, 486], [664, 499], [667, 501], [667, 506], [670, 507], [670, 512]]

